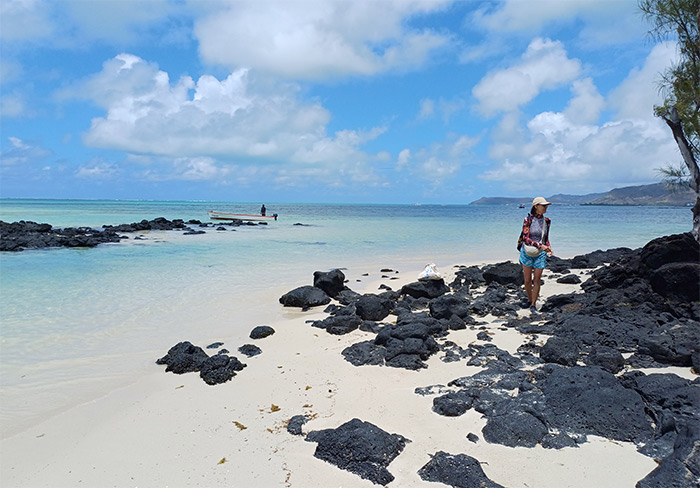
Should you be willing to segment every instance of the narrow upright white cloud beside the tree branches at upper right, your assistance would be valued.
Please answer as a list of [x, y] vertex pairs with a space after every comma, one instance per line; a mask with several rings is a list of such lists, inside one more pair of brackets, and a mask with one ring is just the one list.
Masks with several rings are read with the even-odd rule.
[[654, 46], [641, 68], [633, 69], [627, 78], [608, 95], [618, 118], [648, 118], [654, 105], [663, 102], [658, 82], [661, 73], [677, 60], [676, 44], [663, 42]]

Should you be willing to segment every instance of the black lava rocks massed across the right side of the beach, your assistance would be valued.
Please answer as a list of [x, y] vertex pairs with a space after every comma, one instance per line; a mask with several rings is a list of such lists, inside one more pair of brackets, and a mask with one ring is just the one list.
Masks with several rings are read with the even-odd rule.
[[[690, 234], [673, 235], [637, 250], [552, 257], [548, 268], [555, 273], [551, 279], [563, 275], [558, 281], [578, 290], [549, 297], [540, 313], [531, 316], [518, 315], [525, 300], [522, 272], [510, 262], [460, 267], [449, 286], [441, 280], [416, 282], [376, 295], [341, 289], [344, 276], [336, 270], [334, 285], [317, 290], [328, 298], [325, 303], [330, 303], [329, 294], [338, 303], [326, 308], [326, 319], [312, 325], [330, 334], [357, 329], [376, 334], [342, 352], [355, 366], [419, 370], [442, 353], [442, 361], [481, 367], [477, 374], [447, 386], [417, 388], [416, 393], [435, 395], [433, 411], [439, 415], [480, 412], [486, 418], [482, 435], [487, 442], [548, 449], [575, 448], [588, 435], [633, 442], [659, 462], [638, 488], [697, 487], [700, 378], [634, 371], [680, 366], [700, 374], [697, 241]], [[581, 276], [588, 279], [580, 283]], [[325, 279], [315, 278], [319, 283]], [[512, 355], [489, 343], [488, 330], [477, 335], [483, 344], [460, 346], [447, 340], [452, 330], [479, 327], [479, 318], [486, 315], [499, 318], [499, 327], [520, 331], [529, 342]], [[389, 443], [395, 446], [393, 459], [403, 444], [387, 441], [390, 434], [376, 434], [376, 427], [364, 424], [355, 419], [338, 432], [309, 434], [308, 440], [319, 442], [317, 457], [386, 484], [393, 479], [386, 471], [388, 462], [380, 467], [368, 456]], [[293, 429], [301, 432], [296, 424]], [[498, 486], [465, 454], [438, 452], [419, 474], [450, 486]]]

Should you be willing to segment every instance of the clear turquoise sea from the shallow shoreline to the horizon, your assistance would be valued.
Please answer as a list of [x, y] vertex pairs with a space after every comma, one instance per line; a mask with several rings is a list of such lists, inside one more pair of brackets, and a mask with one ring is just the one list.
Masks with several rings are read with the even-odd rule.
[[[128, 385], [182, 340], [232, 354], [257, 325], [284, 320], [277, 299], [342, 268], [348, 286], [391, 268], [516, 261], [528, 211], [516, 206], [319, 205], [265, 202], [268, 225], [143, 232], [92, 249], [0, 253], [0, 437]], [[0, 200], [0, 220], [100, 227], [260, 204]], [[636, 248], [691, 229], [685, 207], [552, 205], [556, 255]], [[196, 225], [192, 226], [198, 229]], [[235, 230], [232, 230], [235, 229]], [[141, 236], [139, 239], [135, 237]], [[367, 276], [368, 275], [368, 276]], [[239, 354], [238, 354], [239, 355]], [[239, 355], [240, 356], [240, 355]]]

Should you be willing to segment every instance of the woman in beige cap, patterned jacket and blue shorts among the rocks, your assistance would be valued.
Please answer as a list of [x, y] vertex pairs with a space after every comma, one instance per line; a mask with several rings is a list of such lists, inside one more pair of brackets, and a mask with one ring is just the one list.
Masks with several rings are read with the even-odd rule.
[[551, 205], [544, 197], [532, 201], [532, 208], [525, 221], [518, 243], [520, 264], [523, 265], [525, 292], [527, 293], [530, 312], [537, 312], [537, 298], [540, 296], [542, 271], [547, 266], [547, 256], [552, 255], [549, 244], [549, 227], [552, 223], [544, 216]]

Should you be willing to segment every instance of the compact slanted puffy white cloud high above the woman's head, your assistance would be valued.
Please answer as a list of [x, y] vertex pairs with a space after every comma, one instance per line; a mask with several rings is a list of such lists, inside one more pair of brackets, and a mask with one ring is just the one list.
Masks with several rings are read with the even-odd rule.
[[491, 71], [472, 89], [484, 114], [515, 110], [530, 102], [542, 90], [551, 90], [576, 79], [581, 63], [569, 59], [562, 44], [534, 39], [520, 62], [510, 68]]

